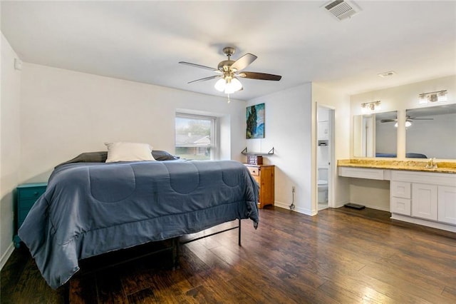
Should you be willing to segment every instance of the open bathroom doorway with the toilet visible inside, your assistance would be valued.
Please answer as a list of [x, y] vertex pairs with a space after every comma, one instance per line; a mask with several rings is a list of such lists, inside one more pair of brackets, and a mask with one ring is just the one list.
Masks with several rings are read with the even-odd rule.
[[333, 206], [334, 109], [317, 105], [317, 210]]

